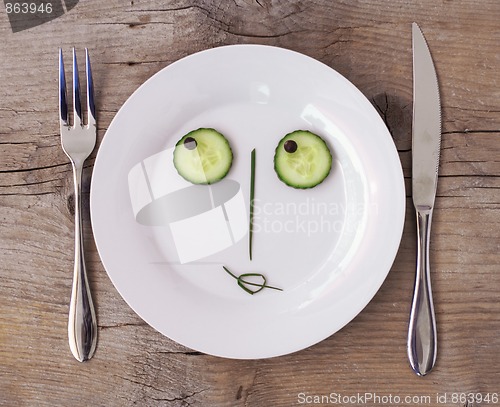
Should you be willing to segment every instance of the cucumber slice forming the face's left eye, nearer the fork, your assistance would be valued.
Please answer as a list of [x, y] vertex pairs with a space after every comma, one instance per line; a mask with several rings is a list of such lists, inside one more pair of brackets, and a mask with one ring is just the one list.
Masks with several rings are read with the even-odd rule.
[[233, 163], [227, 139], [217, 130], [200, 128], [182, 137], [175, 145], [174, 166], [179, 175], [193, 184], [214, 184], [224, 178]]

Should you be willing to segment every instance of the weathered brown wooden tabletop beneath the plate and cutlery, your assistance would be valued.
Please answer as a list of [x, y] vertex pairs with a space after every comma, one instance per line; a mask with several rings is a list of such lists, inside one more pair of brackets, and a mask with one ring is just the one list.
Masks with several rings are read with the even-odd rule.
[[[323, 405], [500, 405], [500, 2], [89, 0], [71, 6], [15, 33], [6, 12], [0, 14], [0, 405], [260, 407], [318, 405], [321, 397]], [[431, 253], [439, 354], [423, 378], [406, 356], [416, 250], [413, 21], [435, 60], [443, 117]], [[74, 204], [59, 141], [58, 48], [91, 49], [99, 144], [118, 109], [152, 74], [194, 52], [241, 43], [312, 56], [352, 81], [380, 112], [399, 151], [408, 197], [388, 278], [351, 323], [323, 342], [272, 359], [226, 360], [146, 325], [113, 287], [88, 239], [99, 344], [91, 361], [76, 362], [66, 328]], [[85, 202], [95, 154], [85, 168]], [[89, 236], [88, 207], [84, 224]], [[466, 398], [471, 393], [489, 403]]]

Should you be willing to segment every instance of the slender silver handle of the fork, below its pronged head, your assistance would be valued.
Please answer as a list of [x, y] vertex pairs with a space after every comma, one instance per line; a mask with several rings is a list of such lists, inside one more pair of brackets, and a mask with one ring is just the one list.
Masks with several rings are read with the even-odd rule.
[[75, 186], [75, 267], [69, 306], [68, 338], [73, 356], [80, 362], [90, 359], [97, 343], [97, 320], [85, 267], [82, 227], [83, 163], [73, 166]]

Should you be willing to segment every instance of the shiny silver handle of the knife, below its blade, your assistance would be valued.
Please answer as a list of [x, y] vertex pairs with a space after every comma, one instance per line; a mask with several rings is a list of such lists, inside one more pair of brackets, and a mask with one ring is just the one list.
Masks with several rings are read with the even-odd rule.
[[437, 330], [432, 302], [429, 242], [432, 209], [417, 209], [417, 272], [408, 329], [408, 358], [419, 376], [431, 371], [436, 362]]

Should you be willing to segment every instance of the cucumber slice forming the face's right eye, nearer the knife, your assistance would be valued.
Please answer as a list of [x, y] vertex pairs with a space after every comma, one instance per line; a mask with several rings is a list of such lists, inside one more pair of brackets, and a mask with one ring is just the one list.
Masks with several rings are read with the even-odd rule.
[[313, 188], [323, 182], [332, 168], [332, 154], [325, 141], [307, 130], [283, 137], [274, 154], [278, 178], [293, 188]]

